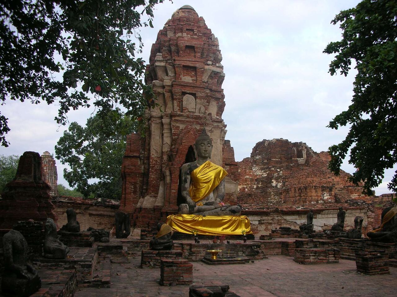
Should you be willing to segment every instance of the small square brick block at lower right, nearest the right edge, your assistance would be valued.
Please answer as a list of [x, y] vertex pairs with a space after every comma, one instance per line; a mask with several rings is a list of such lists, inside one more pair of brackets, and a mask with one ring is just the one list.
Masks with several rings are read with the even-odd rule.
[[389, 254], [385, 251], [356, 252], [357, 272], [363, 274], [389, 274]]

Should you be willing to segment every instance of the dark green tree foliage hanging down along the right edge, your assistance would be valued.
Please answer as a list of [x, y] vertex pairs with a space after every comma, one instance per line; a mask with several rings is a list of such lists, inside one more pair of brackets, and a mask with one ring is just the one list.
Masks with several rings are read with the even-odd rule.
[[[347, 75], [352, 59], [358, 73], [353, 100], [347, 111], [330, 121], [329, 127], [351, 125], [345, 140], [331, 146], [330, 169], [339, 174], [351, 148], [349, 163], [357, 171], [351, 182], [364, 182], [364, 192], [384, 178], [384, 170], [397, 163], [397, 1], [364, 0], [341, 11], [332, 24], [341, 23], [343, 39], [330, 42], [324, 52], [336, 54], [330, 73]], [[389, 190], [397, 191], [397, 171]]]

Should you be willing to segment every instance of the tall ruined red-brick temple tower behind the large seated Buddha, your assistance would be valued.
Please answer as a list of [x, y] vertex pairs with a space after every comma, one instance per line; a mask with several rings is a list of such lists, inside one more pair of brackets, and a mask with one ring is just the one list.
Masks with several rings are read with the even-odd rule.
[[[179, 171], [195, 160], [193, 144], [204, 125], [213, 140], [211, 161], [226, 170], [236, 165], [225, 141], [221, 61], [218, 39], [189, 5], [175, 11], [158, 33], [146, 83], [160, 106], [146, 113], [146, 138], [127, 137], [121, 169], [120, 210], [131, 214], [132, 226], [153, 227], [177, 213]], [[237, 184], [227, 179], [225, 200], [235, 202], [236, 193]]]

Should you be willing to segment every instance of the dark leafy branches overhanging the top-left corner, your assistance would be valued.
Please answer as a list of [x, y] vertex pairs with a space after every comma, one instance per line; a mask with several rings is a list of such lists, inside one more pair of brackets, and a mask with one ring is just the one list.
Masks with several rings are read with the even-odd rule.
[[[0, 103], [58, 101], [62, 125], [70, 109], [92, 104], [100, 115], [119, 104], [129, 117], [142, 117], [154, 93], [141, 78], [144, 61], [134, 57], [143, 46], [135, 29], [152, 27], [152, 8], [162, 1], [1, 1]], [[9, 144], [7, 121], [0, 113], [2, 146]]]

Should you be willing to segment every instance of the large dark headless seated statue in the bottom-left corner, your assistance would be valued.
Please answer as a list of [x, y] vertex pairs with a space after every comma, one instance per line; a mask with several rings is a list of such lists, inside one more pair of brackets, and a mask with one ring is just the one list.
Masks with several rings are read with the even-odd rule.
[[3, 236], [3, 251], [2, 293], [13, 297], [27, 297], [40, 289], [40, 276], [26, 263], [27, 242], [19, 231], [10, 230]]

